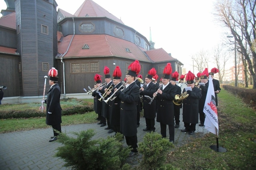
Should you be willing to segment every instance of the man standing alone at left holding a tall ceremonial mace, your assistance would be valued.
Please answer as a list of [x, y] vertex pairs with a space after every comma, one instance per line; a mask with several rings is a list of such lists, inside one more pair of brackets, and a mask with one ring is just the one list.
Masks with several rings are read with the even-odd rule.
[[[52, 69], [51, 69], [52, 70]], [[50, 71], [49, 71], [50, 72]], [[51, 86], [50, 90], [47, 92], [47, 99], [43, 100], [42, 103], [46, 103], [46, 124], [51, 125], [53, 128], [53, 136], [49, 142], [57, 140], [59, 132], [61, 132], [61, 110], [60, 107], [60, 88], [58, 84], [58, 77], [51, 77], [49, 80]]]

